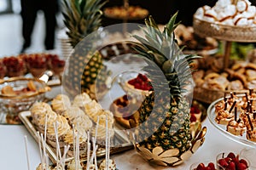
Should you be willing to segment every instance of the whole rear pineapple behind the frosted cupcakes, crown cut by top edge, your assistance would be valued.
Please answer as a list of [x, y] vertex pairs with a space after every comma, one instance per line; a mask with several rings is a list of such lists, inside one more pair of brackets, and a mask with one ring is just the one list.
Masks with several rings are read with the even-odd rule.
[[[103, 65], [102, 55], [93, 48], [97, 41], [92, 32], [101, 26], [102, 0], [63, 0], [64, 23], [67, 35], [73, 46], [69, 57], [67, 72], [63, 83], [68, 93], [86, 92], [92, 99], [96, 93], [106, 90], [106, 82], [110, 74]], [[88, 37], [85, 38], [84, 37]], [[97, 87], [96, 87], [96, 80]]]

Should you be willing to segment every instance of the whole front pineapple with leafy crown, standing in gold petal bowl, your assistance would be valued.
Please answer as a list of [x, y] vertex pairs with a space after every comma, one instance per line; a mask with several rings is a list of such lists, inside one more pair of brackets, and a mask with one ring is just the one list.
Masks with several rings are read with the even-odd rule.
[[[177, 48], [174, 29], [177, 14], [160, 31], [152, 17], [145, 20], [145, 37], [134, 36], [138, 42], [135, 49], [139, 57], [146, 58], [147, 72], [153, 90], [143, 100], [137, 114], [140, 116], [137, 125], [137, 142], [140, 147], [151, 152], [172, 150], [176, 156], [182, 156], [191, 147], [189, 131], [189, 99], [187, 88], [191, 85], [193, 59], [196, 55], [183, 55]], [[160, 152], [156, 155], [160, 155]], [[169, 154], [170, 155], [170, 154]], [[171, 157], [173, 158], [173, 157]], [[180, 159], [164, 159], [166, 164], [175, 165]]]

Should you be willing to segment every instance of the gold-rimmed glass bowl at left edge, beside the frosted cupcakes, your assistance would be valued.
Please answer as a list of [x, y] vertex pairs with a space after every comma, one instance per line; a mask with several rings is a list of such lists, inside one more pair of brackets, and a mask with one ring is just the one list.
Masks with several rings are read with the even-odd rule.
[[[44, 81], [37, 78], [11, 77], [0, 80], [1, 115], [9, 120], [16, 120], [20, 111], [27, 111], [37, 101], [44, 99], [50, 90]], [[4, 122], [3, 120], [1, 122]], [[5, 120], [5, 122], [8, 122]], [[18, 124], [11, 122], [9, 124]]]

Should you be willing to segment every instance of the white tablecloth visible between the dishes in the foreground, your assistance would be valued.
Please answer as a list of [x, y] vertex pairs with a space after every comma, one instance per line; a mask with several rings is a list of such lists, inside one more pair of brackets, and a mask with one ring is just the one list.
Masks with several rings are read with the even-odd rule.
[[[55, 93], [60, 93], [61, 88], [55, 87], [52, 92], [48, 94], [48, 97], [53, 97]], [[202, 144], [201, 148], [190, 157], [188, 161], [177, 167], [159, 167], [150, 165], [148, 161], [137, 154], [136, 150], [127, 150], [119, 154], [111, 156], [116, 162], [119, 170], [131, 170], [131, 169], [177, 169], [186, 170], [190, 165], [195, 162], [201, 161], [215, 161], [215, 157], [221, 152], [235, 152], [239, 153], [247, 145], [237, 143], [236, 141], [227, 138], [224, 134], [220, 133], [216, 127], [213, 127], [211, 122], [206, 119], [202, 122], [203, 126], [207, 127], [206, 140]], [[28, 141], [28, 156], [30, 169], [36, 169], [40, 163], [40, 154], [38, 150], [38, 144], [32, 138], [32, 135], [27, 131], [24, 125], [0, 125], [0, 150], [1, 169], [16, 170], [16, 169], [28, 169], [26, 161], [26, 145], [25, 137]], [[253, 149], [253, 148], [252, 148]]]

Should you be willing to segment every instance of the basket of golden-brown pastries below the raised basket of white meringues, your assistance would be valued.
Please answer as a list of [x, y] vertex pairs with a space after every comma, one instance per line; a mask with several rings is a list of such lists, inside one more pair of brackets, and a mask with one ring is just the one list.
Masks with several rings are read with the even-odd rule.
[[198, 71], [193, 73], [195, 81], [194, 99], [211, 104], [230, 91], [241, 93], [256, 89], [256, 65], [243, 61], [231, 61], [222, 69], [222, 56], [198, 59]]

